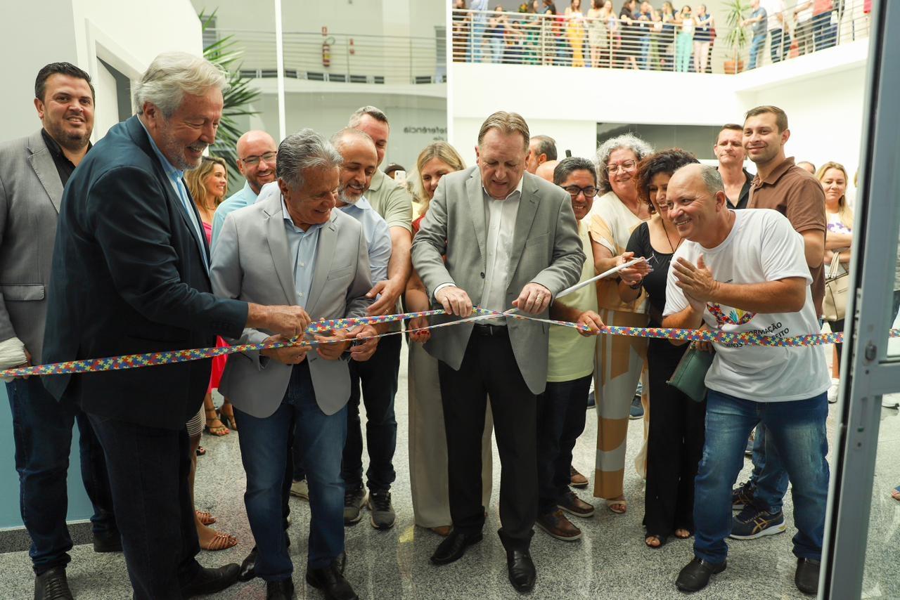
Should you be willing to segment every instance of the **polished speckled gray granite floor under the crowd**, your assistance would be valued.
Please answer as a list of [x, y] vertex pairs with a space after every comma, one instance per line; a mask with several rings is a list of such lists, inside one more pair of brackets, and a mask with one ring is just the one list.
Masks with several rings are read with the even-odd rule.
[[[405, 361], [404, 361], [405, 364]], [[484, 542], [473, 546], [462, 560], [434, 567], [428, 556], [440, 538], [412, 524], [408, 452], [406, 446], [407, 396], [406, 373], [401, 369], [398, 393], [398, 448], [395, 468], [397, 481], [393, 501], [397, 524], [387, 532], [376, 531], [367, 520], [347, 528], [347, 578], [360, 597], [409, 598], [515, 598], [509, 586], [504, 553], [495, 532], [500, 527], [497, 513], [497, 489], [500, 470], [495, 469], [495, 493], [491, 498]], [[900, 401], [900, 399], [898, 399]], [[829, 431], [833, 434], [831, 407]], [[590, 473], [594, 462], [597, 418], [588, 413], [588, 425], [575, 452], [575, 466]], [[233, 549], [202, 552], [199, 560], [207, 566], [240, 562], [253, 546], [244, 512], [242, 494], [244, 473], [238, 452], [238, 434], [222, 438], [204, 435], [206, 456], [199, 462], [197, 505], [219, 518], [215, 526], [233, 533], [239, 543]], [[578, 542], [559, 542], [537, 531], [532, 543], [538, 579], [534, 598], [677, 598], [674, 587], [679, 569], [691, 558], [691, 542], [672, 540], [660, 550], [644, 546], [644, 482], [631, 466], [642, 441], [640, 421], [632, 421], [628, 430], [626, 464], [626, 515], [613, 515], [599, 501], [597, 514], [578, 520], [584, 535]], [[900, 502], [889, 496], [900, 484], [900, 413], [884, 409], [879, 435], [878, 470], [872, 505], [873, 533], [869, 536], [869, 556], [864, 597], [900, 597]], [[495, 450], [496, 452], [496, 450]], [[831, 459], [831, 453], [830, 453]], [[499, 464], [499, 461], [495, 461]], [[750, 461], [746, 462], [749, 468]], [[745, 477], [749, 469], [745, 469]], [[591, 501], [590, 493], [580, 492]], [[790, 495], [785, 501], [788, 532], [749, 542], [730, 542], [729, 566], [713, 583], [692, 598], [801, 598], [794, 587], [795, 559], [790, 538], [796, 531], [792, 523]], [[309, 531], [309, 506], [292, 498], [293, 524], [290, 529], [293, 560], [297, 566], [294, 581], [298, 598], [320, 598], [317, 590], [303, 581], [306, 536]], [[0, 554], [0, 598], [31, 598], [33, 576], [26, 552]], [[130, 597], [128, 576], [121, 555], [95, 554], [90, 546], [76, 546], [68, 567], [68, 578], [81, 600], [121, 600]], [[221, 598], [265, 598], [265, 585], [259, 579], [241, 583], [218, 595]]]

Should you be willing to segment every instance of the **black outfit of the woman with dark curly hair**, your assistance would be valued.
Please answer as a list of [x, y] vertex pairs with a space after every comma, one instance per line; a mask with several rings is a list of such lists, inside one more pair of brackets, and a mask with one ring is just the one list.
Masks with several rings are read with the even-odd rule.
[[[653, 249], [650, 228], [641, 223], [628, 240], [628, 252], [644, 256], [653, 273], [644, 278], [650, 302], [650, 327], [661, 327], [671, 254]], [[707, 403], [689, 399], [666, 383], [688, 345], [650, 339], [650, 433], [647, 436], [647, 490], [644, 525], [663, 542], [676, 529], [694, 531], [694, 478], [703, 453]]]

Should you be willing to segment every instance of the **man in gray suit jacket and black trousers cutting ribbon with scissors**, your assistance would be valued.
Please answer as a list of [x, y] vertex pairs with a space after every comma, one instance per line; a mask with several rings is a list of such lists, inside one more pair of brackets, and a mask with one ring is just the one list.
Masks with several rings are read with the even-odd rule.
[[[444, 175], [412, 246], [413, 266], [448, 313], [473, 303], [547, 317], [554, 295], [579, 281], [584, 253], [572, 202], [525, 173], [528, 126], [515, 112], [482, 124], [478, 164]], [[446, 260], [445, 260], [446, 257]], [[425, 346], [438, 360], [454, 531], [431, 557], [453, 562], [482, 539], [482, 430], [487, 397], [500, 450], [500, 540], [509, 580], [535, 585], [528, 552], [537, 516], [536, 395], [547, 374], [548, 326], [491, 318], [436, 329]]]

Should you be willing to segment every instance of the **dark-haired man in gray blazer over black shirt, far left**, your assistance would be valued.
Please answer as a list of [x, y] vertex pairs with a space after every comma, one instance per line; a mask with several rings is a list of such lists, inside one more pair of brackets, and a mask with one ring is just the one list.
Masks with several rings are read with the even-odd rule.
[[[91, 77], [69, 63], [40, 69], [34, 105], [43, 127], [0, 145], [0, 370], [40, 364], [46, 288], [62, 189], [90, 149]], [[72, 425], [80, 432], [82, 479], [94, 516], [94, 550], [121, 550], [103, 450], [85, 414], [57, 402], [40, 377], [6, 383], [13, 413], [22, 520], [31, 536], [35, 598], [70, 598], [66, 583], [66, 472]]]

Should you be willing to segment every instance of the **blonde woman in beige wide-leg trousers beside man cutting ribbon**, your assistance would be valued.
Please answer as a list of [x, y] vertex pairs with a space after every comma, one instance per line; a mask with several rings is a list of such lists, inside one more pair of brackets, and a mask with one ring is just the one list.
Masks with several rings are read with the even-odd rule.
[[[419, 233], [419, 225], [428, 212], [428, 204], [434, 198], [441, 177], [465, 168], [463, 157], [446, 141], [435, 141], [425, 147], [416, 161], [419, 172], [422, 215], [412, 222], [413, 233]], [[406, 309], [421, 311], [431, 309], [428, 291], [415, 272], [406, 286]], [[428, 354], [422, 344], [431, 334], [428, 318], [410, 319], [409, 400], [410, 400], [410, 488], [412, 513], [415, 524], [426, 527], [438, 535], [450, 533], [450, 491], [447, 481], [446, 431], [441, 388], [437, 379], [437, 359]], [[492, 464], [491, 432], [493, 419], [488, 405], [482, 435], [482, 505], [491, 502]]]

